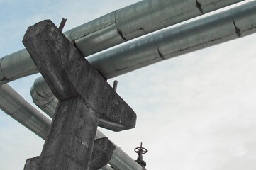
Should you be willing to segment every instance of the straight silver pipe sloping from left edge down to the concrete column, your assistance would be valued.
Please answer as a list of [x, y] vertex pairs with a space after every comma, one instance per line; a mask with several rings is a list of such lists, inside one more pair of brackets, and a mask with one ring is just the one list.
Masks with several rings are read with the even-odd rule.
[[0, 86], [0, 108], [36, 135], [45, 139], [50, 128], [50, 119], [31, 106], [9, 84]]

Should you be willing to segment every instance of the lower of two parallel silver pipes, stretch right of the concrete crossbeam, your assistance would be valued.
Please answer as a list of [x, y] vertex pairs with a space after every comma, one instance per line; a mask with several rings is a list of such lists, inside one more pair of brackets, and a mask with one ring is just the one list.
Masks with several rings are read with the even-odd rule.
[[256, 32], [256, 1], [163, 30], [87, 60], [110, 79], [188, 52]]

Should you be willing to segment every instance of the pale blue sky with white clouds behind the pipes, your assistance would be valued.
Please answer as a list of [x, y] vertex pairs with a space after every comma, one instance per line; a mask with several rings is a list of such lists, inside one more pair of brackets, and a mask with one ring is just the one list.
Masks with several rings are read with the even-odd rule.
[[[65, 31], [135, 2], [0, 0], [0, 57], [23, 49], [26, 29], [39, 21], [58, 26], [67, 18]], [[143, 142], [148, 170], [255, 170], [255, 42], [250, 35], [109, 79], [118, 80], [117, 93], [137, 124], [123, 132], [99, 129], [133, 159]], [[9, 85], [33, 105], [29, 90], [37, 77]], [[23, 169], [43, 143], [0, 111], [0, 169]]]

